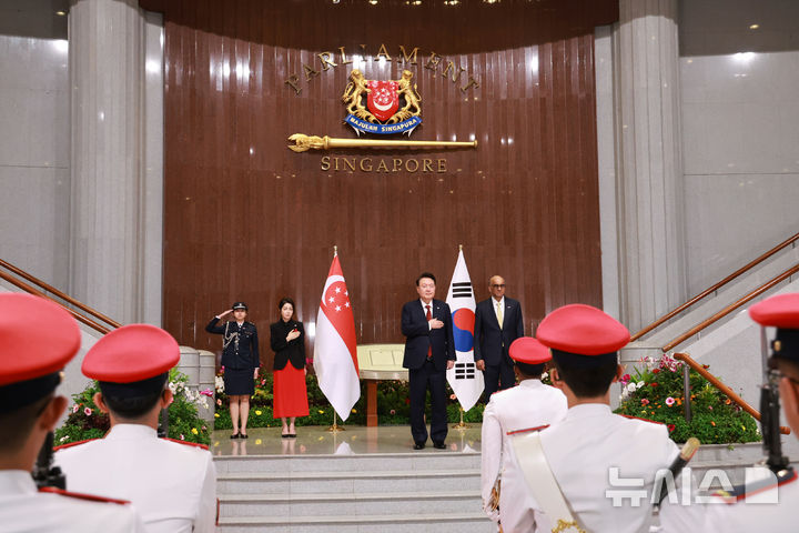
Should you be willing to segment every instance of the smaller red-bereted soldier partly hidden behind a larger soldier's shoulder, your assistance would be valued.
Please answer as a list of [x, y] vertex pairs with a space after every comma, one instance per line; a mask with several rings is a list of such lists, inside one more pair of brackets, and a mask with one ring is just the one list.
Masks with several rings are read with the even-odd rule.
[[523, 336], [510, 344], [509, 355], [519, 384], [492, 394], [483, 413], [481, 454], [483, 509], [505, 533], [545, 526], [544, 520], [536, 524], [534, 502], [508, 439], [543, 430], [562, 420], [568, 409], [563, 392], [540, 382], [552, 360], [549, 349], [536, 339]]

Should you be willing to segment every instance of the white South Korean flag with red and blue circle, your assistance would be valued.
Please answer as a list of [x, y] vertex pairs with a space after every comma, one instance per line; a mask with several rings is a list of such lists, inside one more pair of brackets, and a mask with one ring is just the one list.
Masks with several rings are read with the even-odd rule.
[[475, 300], [472, 280], [466, 269], [463, 250], [458, 252], [447, 304], [453, 313], [453, 336], [455, 338], [455, 368], [447, 370], [447, 382], [464, 411], [477, 403], [483, 394], [483, 372], [474, 362], [474, 310]]

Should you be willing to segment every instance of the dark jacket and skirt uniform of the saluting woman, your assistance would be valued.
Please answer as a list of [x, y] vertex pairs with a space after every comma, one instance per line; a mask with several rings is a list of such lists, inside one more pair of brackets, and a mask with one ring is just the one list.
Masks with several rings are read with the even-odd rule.
[[253, 370], [261, 366], [257, 348], [257, 329], [252, 322], [235, 321], [219, 325], [220, 319], [214, 316], [205, 326], [209, 333], [223, 335], [222, 366], [224, 366], [225, 394], [252, 395], [255, 393]]

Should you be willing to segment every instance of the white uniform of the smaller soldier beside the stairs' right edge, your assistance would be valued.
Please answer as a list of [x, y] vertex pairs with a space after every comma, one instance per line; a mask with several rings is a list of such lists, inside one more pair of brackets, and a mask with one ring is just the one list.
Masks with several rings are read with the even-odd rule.
[[[552, 424], [566, 415], [566, 396], [539, 380], [524, 380], [517, 386], [492, 394], [483, 413], [481, 484], [483, 509], [502, 523], [505, 533], [533, 531], [534, 502], [516, 464], [507, 433]], [[499, 513], [490, 511], [492, 489], [502, 475]]]

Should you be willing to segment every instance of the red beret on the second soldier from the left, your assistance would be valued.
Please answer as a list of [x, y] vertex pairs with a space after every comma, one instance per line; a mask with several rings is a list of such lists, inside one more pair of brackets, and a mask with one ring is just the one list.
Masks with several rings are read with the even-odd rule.
[[178, 342], [149, 324], [130, 324], [112, 331], [83, 358], [88, 378], [110, 383], [133, 383], [168, 372], [180, 361]]

